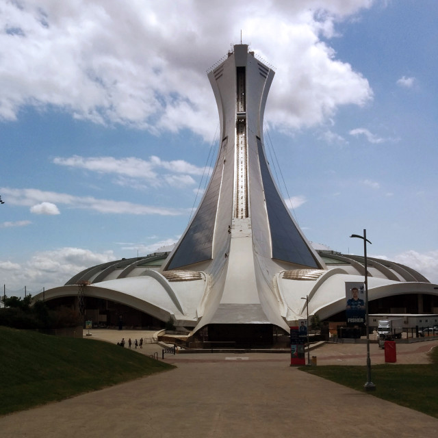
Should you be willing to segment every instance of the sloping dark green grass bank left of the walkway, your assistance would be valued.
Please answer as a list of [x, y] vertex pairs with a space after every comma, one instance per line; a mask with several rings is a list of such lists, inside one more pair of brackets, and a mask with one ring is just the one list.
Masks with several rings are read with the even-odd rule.
[[0, 326], [0, 415], [173, 368], [107, 342]]

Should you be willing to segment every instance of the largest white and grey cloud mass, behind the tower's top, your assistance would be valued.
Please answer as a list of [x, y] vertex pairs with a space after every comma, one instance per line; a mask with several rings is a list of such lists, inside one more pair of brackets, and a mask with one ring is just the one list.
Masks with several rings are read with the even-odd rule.
[[311, 126], [340, 105], [372, 99], [367, 79], [321, 40], [372, 0], [37, 3], [2, 5], [3, 120], [16, 119], [25, 105], [55, 106], [94, 123], [152, 133], [190, 129], [209, 140], [217, 115], [205, 68], [229, 41], [239, 42], [240, 29], [277, 68], [270, 124], [284, 131]]

